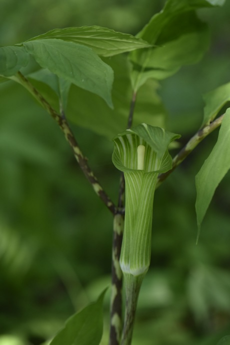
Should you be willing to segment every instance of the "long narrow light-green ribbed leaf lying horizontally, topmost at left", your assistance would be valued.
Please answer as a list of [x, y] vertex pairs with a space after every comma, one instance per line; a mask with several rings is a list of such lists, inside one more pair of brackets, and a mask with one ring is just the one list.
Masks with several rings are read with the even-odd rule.
[[87, 45], [92, 48], [96, 54], [102, 56], [112, 56], [126, 51], [151, 46], [148, 42], [143, 41], [141, 38], [134, 37], [131, 34], [116, 32], [100, 26], [54, 29], [30, 38], [28, 41], [44, 38], [58, 38]]

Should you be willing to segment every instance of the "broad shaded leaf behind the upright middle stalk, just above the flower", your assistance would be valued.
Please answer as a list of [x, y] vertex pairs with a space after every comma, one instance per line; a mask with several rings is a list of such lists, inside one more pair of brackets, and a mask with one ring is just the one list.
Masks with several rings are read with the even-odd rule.
[[[71, 85], [66, 116], [77, 125], [104, 135], [111, 139], [117, 133], [126, 129], [127, 119], [132, 97], [130, 81], [130, 62], [126, 56], [117, 55], [105, 59], [114, 70], [114, 83], [112, 87], [112, 100], [114, 109], [111, 109], [99, 96]], [[50, 74], [48, 74], [50, 76]], [[58, 111], [57, 97], [49, 87], [54, 89], [55, 80], [46, 72], [29, 74], [30, 81], [43, 94], [43, 96]], [[34, 80], [34, 79], [36, 80]], [[40, 80], [42, 82], [38, 82]], [[49, 85], [47, 87], [46, 84]], [[160, 97], [157, 95], [159, 85], [155, 80], [148, 80], [140, 87], [134, 108], [133, 125], [146, 122], [151, 125], [165, 126], [165, 109]]]

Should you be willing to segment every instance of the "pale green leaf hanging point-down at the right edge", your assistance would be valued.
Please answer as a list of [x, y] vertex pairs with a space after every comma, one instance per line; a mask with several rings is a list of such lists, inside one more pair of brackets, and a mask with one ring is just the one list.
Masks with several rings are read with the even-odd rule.
[[219, 135], [210, 155], [195, 176], [196, 217], [198, 233], [200, 224], [212, 199], [214, 191], [230, 168], [230, 108], [227, 109]]

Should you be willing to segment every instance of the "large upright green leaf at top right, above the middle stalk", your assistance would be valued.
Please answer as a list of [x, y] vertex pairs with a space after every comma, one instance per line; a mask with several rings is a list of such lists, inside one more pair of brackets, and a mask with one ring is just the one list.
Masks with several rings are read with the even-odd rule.
[[155, 46], [130, 54], [134, 70], [140, 74], [151, 70], [149, 77], [163, 79], [182, 65], [196, 63], [208, 47], [209, 33], [195, 9], [213, 5], [205, 0], [168, 0], [137, 34]]

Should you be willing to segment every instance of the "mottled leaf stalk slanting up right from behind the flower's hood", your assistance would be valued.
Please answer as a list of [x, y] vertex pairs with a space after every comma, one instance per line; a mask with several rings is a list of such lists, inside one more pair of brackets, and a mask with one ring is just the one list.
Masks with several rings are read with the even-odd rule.
[[217, 117], [214, 121], [206, 125], [205, 127], [199, 129], [190, 140], [181, 148], [181, 150], [172, 159], [172, 168], [167, 172], [160, 173], [158, 175], [158, 181], [156, 188], [162, 183], [162, 181], [170, 175], [170, 173], [188, 156], [189, 153], [202, 141], [208, 134], [210, 134], [214, 129], [220, 126], [224, 114]]

